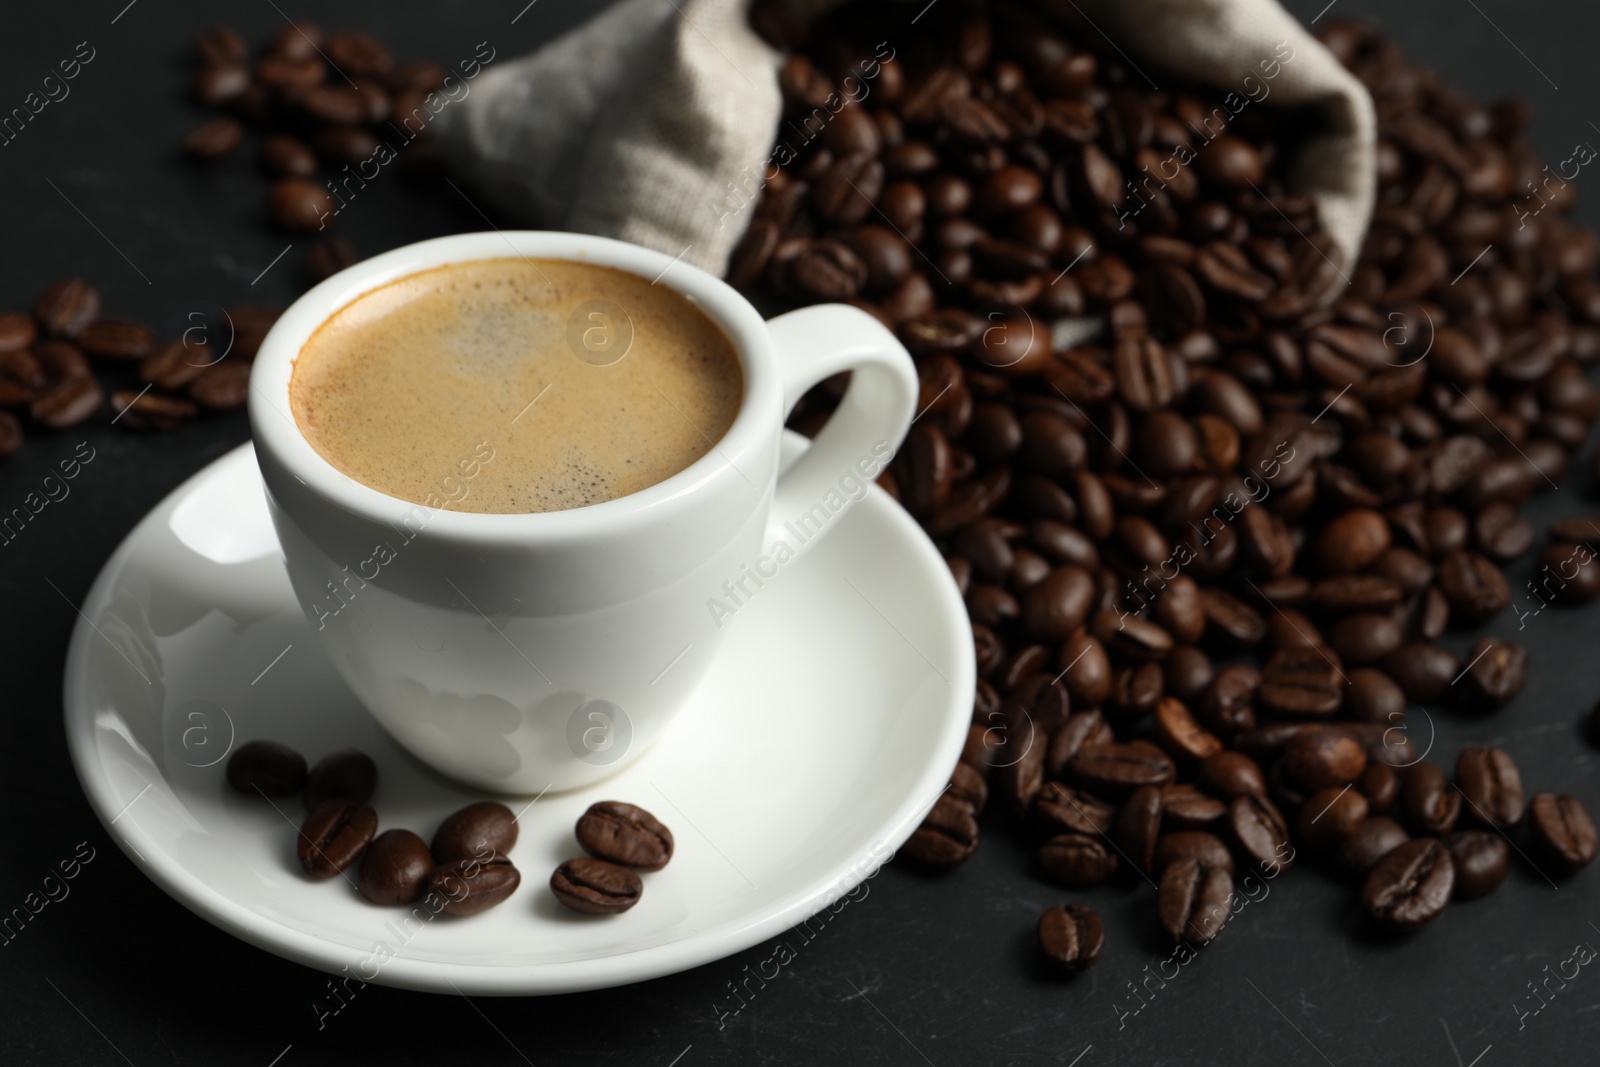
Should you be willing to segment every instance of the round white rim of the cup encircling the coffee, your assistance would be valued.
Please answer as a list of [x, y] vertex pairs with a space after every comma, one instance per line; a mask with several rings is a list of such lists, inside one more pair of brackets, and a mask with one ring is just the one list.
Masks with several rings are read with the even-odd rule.
[[[366, 293], [424, 270], [477, 259], [566, 259], [624, 270], [666, 285], [704, 312], [733, 344], [744, 373], [744, 394], [733, 426], [704, 456], [661, 482], [598, 504], [557, 512], [461, 512], [390, 496], [334, 467], [306, 440], [290, 405], [290, 379], [301, 349], [334, 312]], [[659, 509], [685, 504], [709, 485], [739, 477], [741, 459], [762, 456], [766, 438], [776, 442], [782, 419], [782, 382], [765, 320], [726, 282], [699, 267], [650, 248], [608, 237], [560, 230], [485, 230], [435, 237], [386, 251], [346, 267], [307, 290], [272, 325], [250, 373], [250, 426], [258, 450], [266, 450], [291, 477], [318, 496], [371, 522], [394, 525], [426, 515], [427, 534], [454, 541], [571, 539], [616, 533], [646, 520]], [[763, 426], [765, 422], [765, 426]], [[774, 453], [776, 454], [776, 453]], [[774, 470], [763, 470], [771, 482]], [[760, 482], [757, 488], [765, 488]]]

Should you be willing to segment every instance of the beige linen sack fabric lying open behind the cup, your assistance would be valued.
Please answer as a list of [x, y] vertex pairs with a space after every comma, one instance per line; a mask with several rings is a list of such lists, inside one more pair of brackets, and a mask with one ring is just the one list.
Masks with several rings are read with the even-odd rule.
[[[1354, 264], [1373, 210], [1376, 118], [1366, 90], [1275, 0], [1061, 3], [1134, 62], [1270, 106], [1320, 106], [1328, 133], [1291, 165]], [[451, 162], [531, 224], [602, 234], [722, 275], [749, 211], [728, 202], [773, 155], [781, 56], [749, 0], [622, 0], [522, 59], [486, 70], [440, 115]], [[829, 0], [797, 0], [808, 8]], [[907, 21], [923, 0], [906, 8]], [[1250, 77], [1254, 82], [1246, 83]]]

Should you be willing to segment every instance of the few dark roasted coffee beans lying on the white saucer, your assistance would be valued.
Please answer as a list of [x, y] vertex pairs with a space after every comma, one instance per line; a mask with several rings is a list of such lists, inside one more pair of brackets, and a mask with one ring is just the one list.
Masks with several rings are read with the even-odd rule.
[[[517, 816], [499, 801], [467, 805], [426, 843], [413, 830], [378, 832], [378, 811], [368, 803], [378, 789], [378, 765], [365, 752], [333, 752], [307, 769], [294, 749], [250, 741], [229, 758], [226, 774], [242, 793], [299, 795], [306, 805], [296, 841], [301, 867], [325, 880], [358, 862], [354, 885], [373, 904], [427, 897], [445, 915], [477, 915], [506, 902], [522, 885], [522, 872], [510, 862]], [[619, 800], [590, 805], [576, 835], [589, 856], [568, 859], [550, 875], [550, 893], [576, 912], [629, 910], [645, 891], [637, 872], [661, 870], [672, 859], [672, 830]]]

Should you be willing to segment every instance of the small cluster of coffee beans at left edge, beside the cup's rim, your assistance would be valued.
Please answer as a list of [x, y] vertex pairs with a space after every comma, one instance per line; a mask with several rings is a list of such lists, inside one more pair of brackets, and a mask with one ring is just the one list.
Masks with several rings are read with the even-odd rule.
[[45, 290], [29, 312], [0, 312], [0, 459], [22, 446], [24, 422], [61, 430], [106, 410], [128, 429], [170, 430], [202, 411], [245, 403], [254, 358], [278, 309], [235, 306], [221, 322], [197, 314], [160, 341], [146, 323], [101, 315], [83, 278]]

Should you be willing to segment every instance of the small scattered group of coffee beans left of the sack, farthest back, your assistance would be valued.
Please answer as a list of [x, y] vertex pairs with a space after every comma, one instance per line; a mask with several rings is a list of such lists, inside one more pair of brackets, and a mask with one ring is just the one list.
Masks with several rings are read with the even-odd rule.
[[[446, 70], [429, 59], [397, 64], [382, 42], [354, 30], [323, 34], [310, 22], [290, 22], [259, 50], [226, 26], [194, 43], [190, 96], [218, 117], [182, 139], [197, 163], [216, 163], [240, 149], [246, 133], [259, 136], [258, 160], [272, 186], [267, 221], [285, 232], [326, 230], [338, 214], [330, 194], [334, 176], [371, 166], [379, 136], [400, 144], [400, 168], [432, 178], [437, 157], [427, 138], [429, 93]], [[358, 181], [357, 187], [365, 186]], [[342, 237], [312, 245], [306, 269], [326, 278], [357, 261]]]

